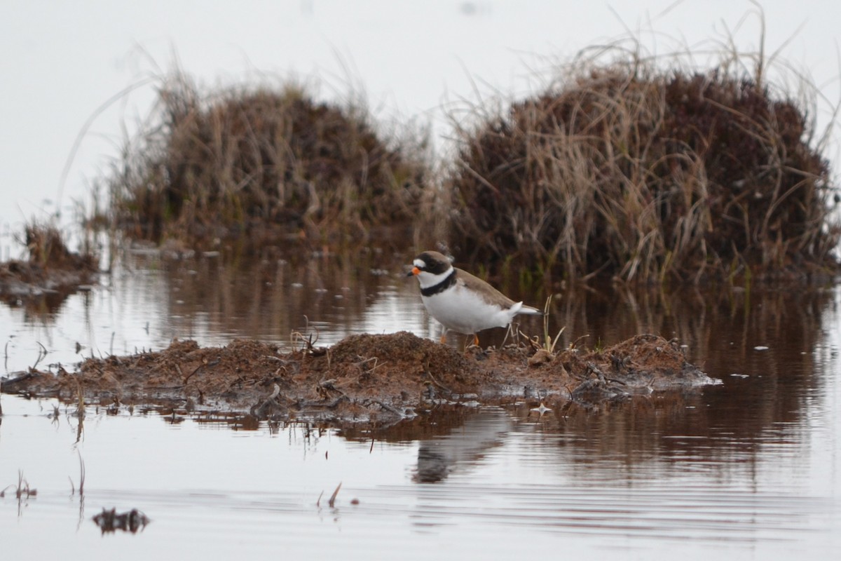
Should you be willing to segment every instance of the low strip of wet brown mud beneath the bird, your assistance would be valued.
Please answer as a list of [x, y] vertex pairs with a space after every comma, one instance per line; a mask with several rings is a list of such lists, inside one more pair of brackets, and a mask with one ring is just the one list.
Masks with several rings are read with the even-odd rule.
[[686, 362], [676, 341], [653, 335], [599, 352], [551, 354], [522, 344], [461, 352], [401, 331], [294, 352], [251, 340], [205, 348], [173, 341], [161, 352], [88, 358], [74, 373], [13, 373], [2, 391], [73, 402], [81, 396], [87, 405], [105, 407], [164, 401], [187, 412], [367, 421], [444, 403], [510, 398], [586, 405], [714, 383]]

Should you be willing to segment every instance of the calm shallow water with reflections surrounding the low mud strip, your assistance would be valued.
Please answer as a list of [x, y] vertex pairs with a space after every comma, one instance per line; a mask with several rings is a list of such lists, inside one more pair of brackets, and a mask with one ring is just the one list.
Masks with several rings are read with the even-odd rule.
[[[77, 342], [87, 356], [173, 336], [434, 335], [412, 279], [380, 268], [391, 261], [130, 255], [91, 292], [0, 304], [5, 368], [28, 368], [41, 346], [39, 368], [70, 366]], [[722, 384], [542, 416], [522, 404], [338, 429], [89, 404], [79, 431], [75, 405], [3, 395], [3, 558], [837, 557], [838, 302], [836, 288], [566, 294], [558, 344], [679, 336]], [[14, 496], [19, 470], [29, 500]], [[102, 535], [91, 517], [113, 507], [151, 524]]]

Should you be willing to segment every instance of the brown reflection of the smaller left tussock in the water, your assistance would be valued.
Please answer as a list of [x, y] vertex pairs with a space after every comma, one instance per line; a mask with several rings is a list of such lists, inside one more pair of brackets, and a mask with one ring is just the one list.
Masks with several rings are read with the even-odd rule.
[[335, 331], [324, 331], [325, 322], [356, 325], [370, 305], [368, 294], [389, 285], [388, 275], [373, 272], [386, 264], [374, 252], [346, 251], [288, 261], [225, 254], [189, 267], [161, 267], [167, 269], [167, 282], [180, 287], [169, 295], [172, 313], [179, 315], [173, 320], [176, 329], [194, 329], [191, 317], [203, 315], [220, 332], [271, 336], [285, 348], [299, 349], [307, 347], [310, 336], [314, 347], [336, 341]]

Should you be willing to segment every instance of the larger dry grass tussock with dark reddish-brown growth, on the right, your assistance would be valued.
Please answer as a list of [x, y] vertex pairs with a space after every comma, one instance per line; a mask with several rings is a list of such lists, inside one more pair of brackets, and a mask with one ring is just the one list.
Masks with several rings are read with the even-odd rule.
[[663, 70], [616, 46], [496, 114], [474, 108], [449, 178], [453, 250], [571, 280], [833, 268], [841, 230], [814, 104], [766, 82], [761, 55], [752, 75], [742, 62]]

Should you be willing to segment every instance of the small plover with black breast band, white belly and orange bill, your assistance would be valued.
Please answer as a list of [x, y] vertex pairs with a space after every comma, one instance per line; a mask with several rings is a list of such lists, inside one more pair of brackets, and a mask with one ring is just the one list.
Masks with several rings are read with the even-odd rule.
[[518, 314], [543, 315], [541, 310], [515, 302], [481, 278], [453, 267], [437, 251], [424, 251], [415, 257], [407, 276], [412, 275], [421, 283], [426, 311], [444, 326], [442, 342], [447, 331], [457, 331], [472, 335], [473, 344], [478, 345], [477, 331], [507, 327]]

